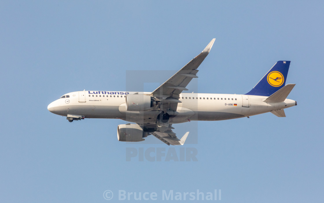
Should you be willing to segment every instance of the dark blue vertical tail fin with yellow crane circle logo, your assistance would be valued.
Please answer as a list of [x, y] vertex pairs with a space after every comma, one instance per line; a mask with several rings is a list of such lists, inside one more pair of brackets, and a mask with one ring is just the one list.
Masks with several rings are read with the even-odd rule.
[[287, 79], [290, 61], [278, 61], [246, 95], [270, 96], [281, 89]]

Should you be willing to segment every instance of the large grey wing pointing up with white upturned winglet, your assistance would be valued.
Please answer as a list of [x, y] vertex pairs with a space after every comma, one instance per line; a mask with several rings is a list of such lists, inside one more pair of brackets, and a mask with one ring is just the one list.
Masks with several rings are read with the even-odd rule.
[[193, 58], [189, 63], [187, 63], [176, 74], [174, 74], [165, 83], [154, 90], [150, 95], [153, 96], [156, 101], [165, 100], [163, 103], [168, 103], [168, 107], [166, 108], [170, 108], [171, 110], [176, 111], [178, 103], [180, 102], [179, 94], [183, 90], [188, 90], [186, 86], [189, 84], [192, 78], [197, 78], [197, 68], [208, 55], [214, 44], [214, 41], [215, 39], [212, 39], [212, 41], [209, 42], [207, 47], [198, 56]]

